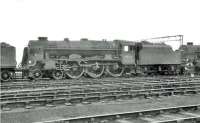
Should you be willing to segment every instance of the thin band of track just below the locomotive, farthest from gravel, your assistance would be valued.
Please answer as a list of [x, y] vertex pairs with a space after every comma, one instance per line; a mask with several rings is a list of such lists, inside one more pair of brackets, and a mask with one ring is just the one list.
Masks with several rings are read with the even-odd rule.
[[1, 90], [17, 90], [32, 88], [49, 88], [63, 86], [83, 86], [94, 84], [110, 83], [163, 83], [163, 82], [182, 82], [182, 81], [200, 81], [199, 77], [136, 77], [136, 78], [103, 78], [103, 79], [83, 79], [83, 80], [39, 80], [39, 81], [13, 81], [1, 83]]

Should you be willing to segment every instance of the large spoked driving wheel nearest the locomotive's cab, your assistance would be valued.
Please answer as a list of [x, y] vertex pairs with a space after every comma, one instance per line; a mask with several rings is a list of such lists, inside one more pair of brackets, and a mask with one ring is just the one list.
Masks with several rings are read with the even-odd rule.
[[112, 77], [120, 77], [124, 72], [124, 67], [120, 63], [115, 63], [113, 65], [108, 65], [106, 67], [106, 72]]

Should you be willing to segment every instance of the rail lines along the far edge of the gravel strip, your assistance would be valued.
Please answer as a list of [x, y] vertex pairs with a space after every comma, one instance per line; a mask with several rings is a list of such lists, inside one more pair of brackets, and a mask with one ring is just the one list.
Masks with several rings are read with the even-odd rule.
[[153, 83], [109, 83], [57, 88], [38, 88], [1, 92], [1, 109], [33, 108], [37, 106], [71, 105], [97, 101], [148, 98], [169, 95], [196, 94], [200, 92], [199, 81], [153, 82]]

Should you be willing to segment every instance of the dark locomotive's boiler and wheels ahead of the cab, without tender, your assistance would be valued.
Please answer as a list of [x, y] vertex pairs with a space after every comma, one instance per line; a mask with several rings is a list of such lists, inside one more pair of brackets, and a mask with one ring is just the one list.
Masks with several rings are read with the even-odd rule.
[[81, 39], [80, 41], [48, 41], [39, 37], [24, 49], [22, 67], [29, 77], [42, 76], [61, 79], [80, 78], [83, 74], [98, 78], [107, 71], [111, 76], [121, 76], [123, 66], [117, 43]]

